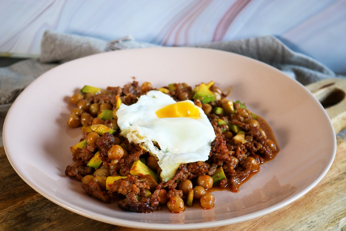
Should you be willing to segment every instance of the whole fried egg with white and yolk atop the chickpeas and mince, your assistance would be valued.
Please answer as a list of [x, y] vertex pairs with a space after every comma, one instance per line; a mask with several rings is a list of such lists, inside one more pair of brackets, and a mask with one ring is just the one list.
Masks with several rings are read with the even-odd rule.
[[200, 107], [161, 91], [149, 91], [130, 106], [121, 104], [117, 117], [120, 134], [156, 157], [164, 182], [181, 163], [206, 161], [216, 137]]

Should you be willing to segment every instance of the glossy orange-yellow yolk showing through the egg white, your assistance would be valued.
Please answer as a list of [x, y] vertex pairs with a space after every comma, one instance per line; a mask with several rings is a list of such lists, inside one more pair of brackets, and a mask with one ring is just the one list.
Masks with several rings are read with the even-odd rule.
[[156, 116], [159, 118], [172, 118], [172, 117], [190, 117], [199, 118], [200, 112], [197, 106], [189, 102], [177, 102], [167, 105], [156, 111]]

